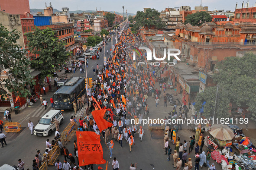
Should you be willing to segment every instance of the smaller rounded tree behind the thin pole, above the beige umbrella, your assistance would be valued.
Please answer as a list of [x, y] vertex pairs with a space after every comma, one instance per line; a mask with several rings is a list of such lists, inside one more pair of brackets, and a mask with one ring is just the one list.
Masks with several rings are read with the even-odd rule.
[[[205, 117], [213, 117], [214, 107], [215, 107], [215, 98], [216, 98], [217, 87], [209, 87], [205, 88], [204, 92], [198, 93], [195, 98], [195, 110], [200, 111], [202, 106], [204, 106], [204, 113], [202, 113]], [[202, 105], [205, 101], [205, 104]], [[214, 117], [228, 117], [228, 107], [229, 107], [229, 99], [227, 97], [227, 92], [223, 91], [221, 88], [218, 90], [217, 96], [217, 106]]]

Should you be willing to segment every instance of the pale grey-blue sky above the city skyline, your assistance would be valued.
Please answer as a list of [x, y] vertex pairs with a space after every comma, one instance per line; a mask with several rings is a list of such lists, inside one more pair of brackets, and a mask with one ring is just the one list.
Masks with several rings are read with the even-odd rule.
[[[247, 0], [244, 0], [247, 2]], [[62, 7], [69, 7], [70, 11], [74, 10], [104, 10], [104, 11], [117, 11], [134, 13], [143, 11], [143, 8], [154, 8], [161, 12], [165, 8], [172, 8], [178, 6], [199, 6], [201, 0], [29, 0], [30, 8], [43, 9], [52, 3], [52, 7], [61, 10]], [[208, 6], [208, 10], [235, 10], [236, 3], [238, 8], [241, 8], [243, 0], [202, 0], [202, 6]], [[250, 1], [250, 6], [254, 6], [255, 0]]]

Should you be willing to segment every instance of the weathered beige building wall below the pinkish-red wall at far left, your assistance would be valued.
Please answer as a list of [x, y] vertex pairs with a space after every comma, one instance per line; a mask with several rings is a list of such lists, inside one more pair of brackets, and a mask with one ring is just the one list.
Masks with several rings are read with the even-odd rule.
[[3, 11], [0, 11], [0, 21], [1, 21], [1, 24], [5, 28], [7, 28], [9, 31], [16, 29], [16, 31], [20, 32], [19, 33], [20, 38], [17, 40], [17, 44], [19, 44], [21, 47], [25, 47], [25, 44], [23, 41], [23, 35], [22, 35], [23, 31], [22, 31], [20, 16], [11, 15]]

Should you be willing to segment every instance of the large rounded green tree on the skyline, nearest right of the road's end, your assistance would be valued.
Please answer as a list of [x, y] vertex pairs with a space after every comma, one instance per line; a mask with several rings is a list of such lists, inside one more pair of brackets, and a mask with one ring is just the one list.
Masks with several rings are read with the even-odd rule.
[[160, 13], [156, 9], [147, 9], [146, 13], [137, 11], [134, 20], [136, 21], [134, 27], [136, 30], [143, 26], [156, 26], [156, 28], [164, 28], [165, 25], [162, 23], [159, 17]]

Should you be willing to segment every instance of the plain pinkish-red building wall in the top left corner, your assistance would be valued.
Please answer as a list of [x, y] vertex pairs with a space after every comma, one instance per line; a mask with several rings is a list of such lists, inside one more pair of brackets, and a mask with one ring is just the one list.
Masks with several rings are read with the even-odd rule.
[[0, 0], [0, 8], [10, 14], [30, 12], [29, 0]]

